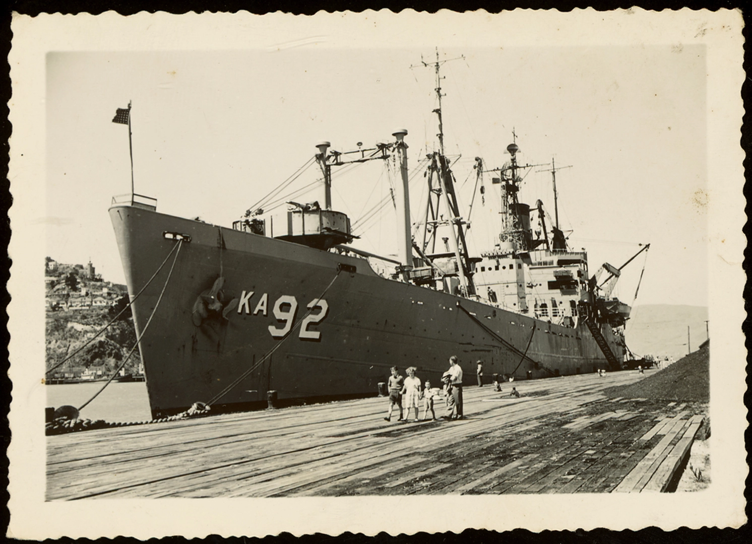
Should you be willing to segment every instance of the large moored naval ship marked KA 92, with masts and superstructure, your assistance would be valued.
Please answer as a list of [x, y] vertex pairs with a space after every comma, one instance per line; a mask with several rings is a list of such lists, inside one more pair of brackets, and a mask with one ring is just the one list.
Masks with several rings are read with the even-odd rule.
[[[468, 249], [444, 154], [441, 64], [438, 53], [423, 62], [435, 68], [439, 131], [426, 155], [421, 229], [410, 219], [405, 129], [369, 149], [317, 144], [311, 164], [320, 168], [323, 204], [289, 201], [276, 215], [250, 209], [232, 226], [159, 213], [156, 199], [133, 190], [113, 198], [154, 418], [196, 403], [221, 412], [271, 398], [284, 406], [373, 396], [392, 366], [416, 367], [438, 384], [451, 355], [465, 383], [477, 361], [486, 382], [622, 368], [630, 308], [611, 297], [622, 267], [606, 263], [591, 274], [587, 252], [568, 246], [553, 163], [556, 218], [540, 200], [520, 201], [522, 173], [534, 165], [519, 159], [514, 133], [504, 165], [475, 159], [503, 206], [495, 245], [479, 255]], [[357, 249], [350, 218], [332, 209], [332, 169], [371, 161], [396, 179], [396, 255]]]

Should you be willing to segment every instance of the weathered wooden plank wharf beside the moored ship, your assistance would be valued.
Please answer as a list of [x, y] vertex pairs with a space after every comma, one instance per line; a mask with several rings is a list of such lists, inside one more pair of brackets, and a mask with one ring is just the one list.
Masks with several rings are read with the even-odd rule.
[[47, 500], [666, 491], [703, 406], [602, 392], [652, 372], [465, 386], [454, 422], [371, 397], [47, 437]]

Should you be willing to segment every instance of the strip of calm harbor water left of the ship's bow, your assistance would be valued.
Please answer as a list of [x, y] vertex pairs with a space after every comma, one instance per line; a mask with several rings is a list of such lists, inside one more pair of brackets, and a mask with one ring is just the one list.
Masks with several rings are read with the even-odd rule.
[[[92, 397], [105, 382], [46, 385], [47, 406], [69, 404], [76, 408]], [[81, 410], [81, 419], [106, 422], [143, 422], [151, 419], [145, 382], [113, 382]]]

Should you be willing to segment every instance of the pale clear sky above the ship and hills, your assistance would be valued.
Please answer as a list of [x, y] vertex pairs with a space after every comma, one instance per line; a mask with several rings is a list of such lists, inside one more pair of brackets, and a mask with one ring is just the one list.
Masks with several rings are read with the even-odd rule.
[[[634, 304], [708, 304], [705, 46], [441, 47], [445, 150], [463, 215], [475, 189], [476, 156], [488, 168], [529, 168], [520, 201], [538, 198], [570, 246], [587, 248], [590, 270], [626, 267], [615, 294]], [[319, 141], [339, 151], [393, 141], [406, 128], [411, 216], [426, 197], [420, 163], [438, 145], [430, 47], [47, 53], [47, 255], [85, 264], [123, 283], [107, 213], [130, 192], [128, 129], [111, 122], [132, 101], [135, 192], [157, 210], [231, 226], [294, 174]], [[347, 171], [349, 170], [349, 171]], [[332, 204], [361, 238], [353, 246], [396, 253], [395, 210], [358, 224], [388, 197], [393, 176], [380, 162], [335, 170]], [[323, 201], [308, 168], [296, 201]], [[468, 233], [472, 252], [499, 232], [498, 186], [484, 174]], [[311, 185], [312, 184], [312, 185]], [[280, 208], [282, 209], [282, 208]], [[381, 219], [378, 221], [377, 219]], [[570, 232], [571, 231], [571, 232]]]

